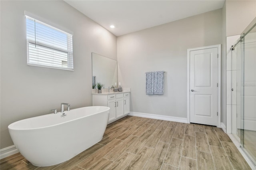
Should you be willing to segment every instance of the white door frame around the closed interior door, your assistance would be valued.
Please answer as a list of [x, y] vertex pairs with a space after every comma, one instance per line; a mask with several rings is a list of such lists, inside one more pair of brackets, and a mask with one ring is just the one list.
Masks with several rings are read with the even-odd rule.
[[217, 92], [217, 127], [220, 127], [220, 90], [221, 90], [221, 45], [210, 45], [204, 47], [190, 48], [187, 49], [187, 122], [190, 123], [190, 51], [200, 50], [200, 49], [208, 49], [208, 48], [216, 48], [218, 53], [218, 92]]

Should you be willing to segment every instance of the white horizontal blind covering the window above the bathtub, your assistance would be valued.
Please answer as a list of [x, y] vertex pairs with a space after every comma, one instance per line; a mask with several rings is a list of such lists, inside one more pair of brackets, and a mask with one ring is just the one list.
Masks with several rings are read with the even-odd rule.
[[72, 35], [26, 16], [28, 65], [73, 70]]

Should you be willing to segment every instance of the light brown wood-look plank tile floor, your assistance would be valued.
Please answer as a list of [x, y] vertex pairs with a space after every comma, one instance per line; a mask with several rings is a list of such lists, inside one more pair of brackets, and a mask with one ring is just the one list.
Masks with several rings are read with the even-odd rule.
[[1, 170], [250, 170], [221, 128], [126, 116], [103, 139], [74, 158], [48, 167], [21, 154], [0, 160]]

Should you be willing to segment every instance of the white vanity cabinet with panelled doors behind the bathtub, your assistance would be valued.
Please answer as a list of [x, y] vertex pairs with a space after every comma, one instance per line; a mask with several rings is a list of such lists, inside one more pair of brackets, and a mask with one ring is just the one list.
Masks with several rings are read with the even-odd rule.
[[130, 113], [130, 93], [92, 94], [92, 105], [110, 107], [110, 123]]

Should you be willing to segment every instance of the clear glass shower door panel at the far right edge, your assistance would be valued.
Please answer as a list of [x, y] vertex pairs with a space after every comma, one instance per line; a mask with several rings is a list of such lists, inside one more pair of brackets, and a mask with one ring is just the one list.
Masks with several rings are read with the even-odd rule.
[[256, 26], [244, 36], [244, 59], [242, 60], [241, 109], [243, 109], [244, 150], [256, 164]]

